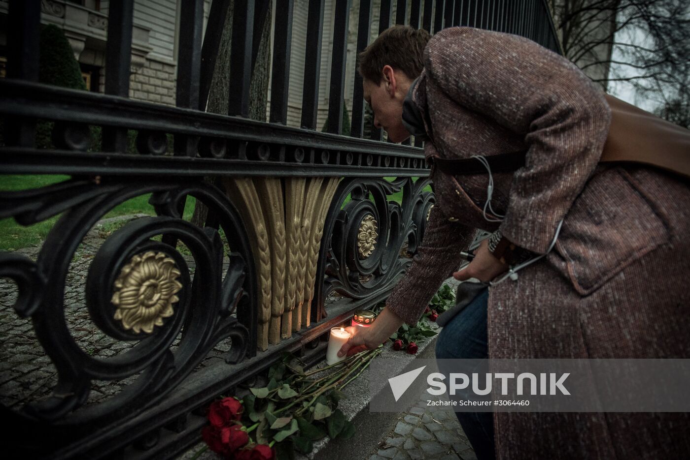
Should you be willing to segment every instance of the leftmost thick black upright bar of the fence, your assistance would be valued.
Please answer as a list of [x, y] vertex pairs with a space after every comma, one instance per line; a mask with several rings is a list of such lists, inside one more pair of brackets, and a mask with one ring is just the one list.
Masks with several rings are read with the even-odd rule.
[[[9, 9], [7, 76], [39, 81], [41, 2], [13, 1]], [[7, 145], [35, 147], [35, 121], [6, 118], [4, 135]]]

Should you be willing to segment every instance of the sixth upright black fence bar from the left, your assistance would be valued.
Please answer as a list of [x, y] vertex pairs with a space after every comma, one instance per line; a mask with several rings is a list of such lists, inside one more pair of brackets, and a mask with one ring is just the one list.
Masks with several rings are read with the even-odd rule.
[[306, 56], [304, 57], [304, 85], [302, 86], [302, 127], [316, 128], [319, 113], [319, 67], [324, 31], [324, 1], [309, 0], [306, 25]]

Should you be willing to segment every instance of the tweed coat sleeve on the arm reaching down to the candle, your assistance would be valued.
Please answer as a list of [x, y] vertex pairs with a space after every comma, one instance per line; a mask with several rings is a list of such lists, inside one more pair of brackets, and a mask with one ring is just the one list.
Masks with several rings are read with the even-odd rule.
[[386, 300], [386, 308], [413, 326], [441, 283], [462, 263], [460, 252], [472, 242], [474, 229], [449, 222], [438, 206], [431, 209], [426, 231], [412, 264]]

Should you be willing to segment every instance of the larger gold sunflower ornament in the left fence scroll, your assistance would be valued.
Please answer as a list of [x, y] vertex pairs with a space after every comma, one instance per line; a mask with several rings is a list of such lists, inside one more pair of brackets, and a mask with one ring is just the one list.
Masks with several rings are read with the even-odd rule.
[[175, 260], [165, 253], [148, 251], [137, 254], [120, 271], [115, 280], [112, 302], [115, 320], [135, 333], [152, 333], [153, 326], [163, 326], [163, 318], [174, 313], [172, 305], [179, 302], [177, 292], [180, 272]]

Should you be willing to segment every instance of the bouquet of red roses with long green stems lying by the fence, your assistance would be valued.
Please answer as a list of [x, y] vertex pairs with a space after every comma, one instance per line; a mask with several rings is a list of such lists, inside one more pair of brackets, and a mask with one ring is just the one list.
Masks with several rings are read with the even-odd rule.
[[238, 460], [292, 459], [295, 450], [307, 454], [323, 437], [349, 439], [355, 427], [337, 408], [342, 389], [381, 350], [309, 371], [299, 359], [284, 355], [268, 371], [266, 386], [249, 388], [242, 400], [213, 401], [201, 437], [213, 452]]

